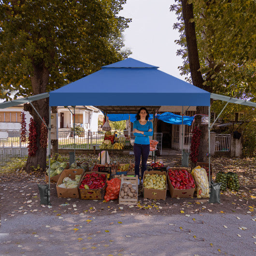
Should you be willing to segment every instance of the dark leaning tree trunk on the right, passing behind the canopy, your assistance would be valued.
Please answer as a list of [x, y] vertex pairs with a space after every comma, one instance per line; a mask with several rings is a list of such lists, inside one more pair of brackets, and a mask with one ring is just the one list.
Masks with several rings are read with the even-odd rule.
[[[199, 63], [199, 55], [198, 55], [198, 46], [197, 46], [197, 37], [195, 30], [195, 22], [194, 14], [193, 14], [193, 5], [188, 4], [187, 0], [182, 0], [182, 13], [185, 22], [185, 35], [186, 35], [186, 44], [188, 51], [188, 60], [189, 60], [189, 68], [191, 73], [191, 78], [193, 85], [204, 89], [209, 90], [209, 87], [203, 85], [203, 78], [201, 75], [200, 63]], [[197, 106], [196, 114], [207, 114], [208, 115], [208, 107], [207, 106]], [[210, 120], [210, 117], [209, 117]], [[201, 115], [196, 116], [195, 125], [199, 127], [202, 131], [199, 145], [199, 162], [206, 162], [207, 159], [207, 139], [208, 139], [208, 126], [201, 125]], [[193, 167], [193, 166], [192, 166]]]

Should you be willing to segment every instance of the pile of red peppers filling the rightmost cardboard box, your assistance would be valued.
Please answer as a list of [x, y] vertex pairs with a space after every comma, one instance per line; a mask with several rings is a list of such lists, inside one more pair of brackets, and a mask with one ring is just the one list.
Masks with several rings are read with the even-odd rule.
[[169, 169], [168, 176], [175, 189], [190, 189], [195, 187], [191, 173], [186, 170]]

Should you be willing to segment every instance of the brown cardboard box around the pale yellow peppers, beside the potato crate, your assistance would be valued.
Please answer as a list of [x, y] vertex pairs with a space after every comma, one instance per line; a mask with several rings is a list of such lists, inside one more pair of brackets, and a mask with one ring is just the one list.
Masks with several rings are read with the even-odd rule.
[[[166, 175], [166, 171], [144, 171], [143, 181], [144, 181], [146, 174], [158, 174], [158, 175], [165, 174]], [[166, 180], [167, 180], [167, 177], [166, 177]], [[165, 184], [167, 184], [166, 181], [165, 181]], [[142, 190], [143, 190], [144, 198], [157, 199], [157, 200], [159, 200], [159, 199], [165, 200], [166, 199], [166, 189], [161, 190], [161, 189], [145, 188], [143, 185]]]

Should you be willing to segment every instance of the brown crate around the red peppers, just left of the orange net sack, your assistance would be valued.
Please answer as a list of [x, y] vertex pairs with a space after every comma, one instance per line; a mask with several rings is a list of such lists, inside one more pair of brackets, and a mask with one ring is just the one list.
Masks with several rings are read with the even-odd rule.
[[[79, 198], [82, 199], [82, 200], [103, 200], [104, 199], [105, 192], [106, 192], [106, 186], [107, 186], [107, 180], [106, 180], [106, 184], [102, 188], [95, 188], [95, 189], [79, 188], [83, 179], [84, 179], [84, 176], [88, 173], [93, 173], [93, 172], [96, 172], [96, 171], [87, 171], [87, 172], [85, 172], [85, 174], [83, 175], [82, 179], [79, 182], [79, 185], [78, 185]], [[107, 172], [97, 171], [97, 173], [105, 174], [106, 177], [108, 175]]]

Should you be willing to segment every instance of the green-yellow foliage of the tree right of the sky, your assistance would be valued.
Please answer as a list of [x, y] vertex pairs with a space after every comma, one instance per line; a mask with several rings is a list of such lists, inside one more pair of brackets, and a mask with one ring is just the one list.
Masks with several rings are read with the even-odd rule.
[[[215, 93], [249, 98], [256, 95], [256, 4], [254, 0], [190, 0], [197, 33], [200, 71]], [[184, 65], [181, 74], [189, 75], [189, 62], [181, 0], [171, 6], [180, 32], [177, 55]], [[189, 76], [186, 78], [191, 82]], [[209, 89], [209, 91], [211, 91]]]

